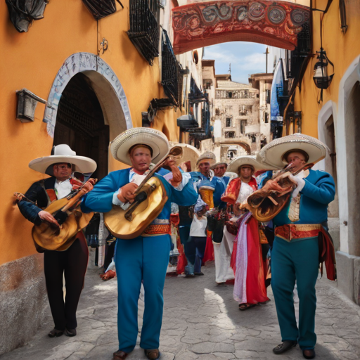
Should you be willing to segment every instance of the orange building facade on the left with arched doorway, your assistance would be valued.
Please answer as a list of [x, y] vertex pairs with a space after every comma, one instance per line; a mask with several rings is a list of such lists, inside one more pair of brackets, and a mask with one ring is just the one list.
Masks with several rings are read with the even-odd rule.
[[96, 160], [94, 177], [101, 179], [125, 166], [113, 160], [108, 146], [126, 129], [153, 127], [179, 141], [177, 119], [189, 111], [198, 118], [198, 133], [210, 129], [205, 101], [198, 105], [204, 98], [202, 49], [179, 56], [172, 50], [176, 0], [124, 0], [123, 8], [116, 3], [98, 11], [86, 6], [91, 0], [43, 3], [26, 16], [14, 1], [0, 4], [0, 44], [7, 49], [0, 67], [6, 165], [0, 188], [0, 354], [34, 335], [47, 304], [42, 255], [13, 197], [46, 177], [29, 162], [68, 143], [77, 155]]

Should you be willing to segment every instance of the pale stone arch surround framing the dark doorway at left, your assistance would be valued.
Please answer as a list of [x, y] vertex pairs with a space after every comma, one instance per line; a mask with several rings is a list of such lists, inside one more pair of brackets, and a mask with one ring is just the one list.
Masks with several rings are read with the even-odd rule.
[[91, 81], [103, 110], [104, 122], [110, 127], [110, 140], [130, 129], [132, 122], [129, 104], [115, 72], [93, 53], [74, 53], [65, 60], [51, 86], [43, 120], [47, 123], [48, 134], [53, 137], [61, 94], [70, 79], [79, 72]]

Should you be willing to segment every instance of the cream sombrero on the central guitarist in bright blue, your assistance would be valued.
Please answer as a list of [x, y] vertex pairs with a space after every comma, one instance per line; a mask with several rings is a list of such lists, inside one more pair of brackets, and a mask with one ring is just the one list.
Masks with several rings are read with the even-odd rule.
[[170, 146], [167, 137], [159, 130], [150, 127], [134, 127], [124, 131], [110, 143], [110, 152], [124, 164], [131, 165], [129, 150], [135, 145], [146, 145], [153, 150], [151, 162], [157, 164], [169, 153]]

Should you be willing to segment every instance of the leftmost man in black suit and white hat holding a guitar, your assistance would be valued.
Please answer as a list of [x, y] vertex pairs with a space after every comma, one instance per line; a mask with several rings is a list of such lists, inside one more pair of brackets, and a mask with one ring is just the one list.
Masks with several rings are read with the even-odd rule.
[[[35, 226], [53, 224], [58, 221], [44, 209], [55, 200], [66, 198], [83, 184], [72, 177], [72, 172], [93, 173], [96, 162], [84, 156], [77, 156], [70, 146], [61, 144], [53, 147], [52, 155], [32, 160], [31, 169], [51, 177], [37, 181], [18, 198], [18, 207], [23, 216]], [[80, 190], [91, 190], [94, 179], [90, 179]], [[66, 245], [66, 244], [65, 244]], [[35, 242], [38, 252], [44, 252], [44, 273], [51, 314], [55, 327], [48, 334], [50, 338], [63, 335], [75, 336], [77, 328], [76, 310], [84, 286], [89, 250], [82, 231], [65, 251], [46, 250]], [[63, 274], [65, 275], [66, 296], [63, 297]]]

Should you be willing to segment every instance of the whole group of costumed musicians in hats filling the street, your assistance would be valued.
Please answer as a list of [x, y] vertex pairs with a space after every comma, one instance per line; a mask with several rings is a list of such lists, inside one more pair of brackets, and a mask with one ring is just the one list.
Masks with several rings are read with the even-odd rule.
[[[271, 283], [281, 328], [281, 344], [272, 351], [282, 354], [299, 344], [304, 358], [313, 359], [315, 284], [323, 262], [328, 278], [336, 277], [326, 222], [335, 184], [330, 174], [312, 169], [325, 158], [326, 146], [294, 134], [271, 141], [256, 157], [240, 156], [228, 164], [217, 162], [211, 152], [170, 146], [155, 129], [134, 128], [117, 136], [110, 151], [129, 168], [110, 172], [96, 184], [90, 177], [94, 160], [65, 144], [55, 146], [50, 156], [29, 164], [50, 177], [32, 184], [25, 195], [16, 194], [20, 212], [34, 223], [35, 246], [44, 252], [54, 321], [49, 337], [77, 335], [77, 304], [89, 258], [83, 232], [98, 212], [110, 238], [117, 239], [111, 247], [118, 288], [114, 360], [125, 359], [136, 345], [141, 285], [140, 347], [147, 359], [160, 359], [170, 253], [179, 253], [176, 272], [186, 278], [203, 276], [202, 266], [214, 261], [214, 281], [233, 284], [241, 311], [269, 302]], [[75, 178], [74, 172], [82, 175]]]

